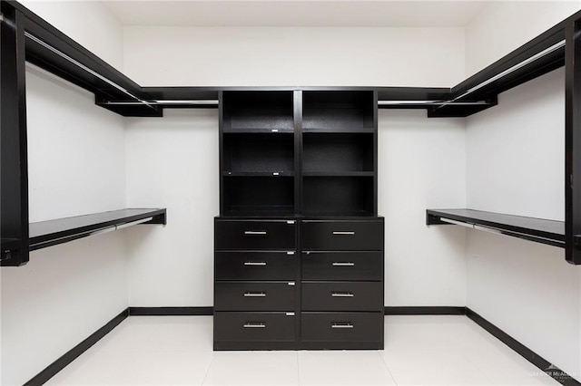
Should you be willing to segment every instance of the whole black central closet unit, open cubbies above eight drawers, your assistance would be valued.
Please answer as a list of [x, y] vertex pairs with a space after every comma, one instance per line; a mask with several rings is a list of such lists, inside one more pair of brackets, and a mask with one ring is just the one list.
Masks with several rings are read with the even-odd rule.
[[382, 348], [377, 92], [221, 95], [214, 349]]

